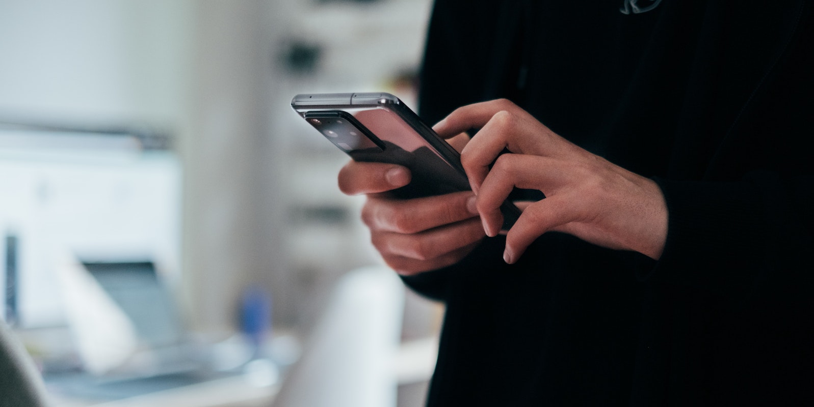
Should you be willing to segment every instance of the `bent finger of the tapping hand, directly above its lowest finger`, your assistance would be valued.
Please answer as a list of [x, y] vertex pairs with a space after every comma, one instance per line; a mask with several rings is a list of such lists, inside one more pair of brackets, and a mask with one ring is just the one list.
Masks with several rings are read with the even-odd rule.
[[561, 160], [524, 154], [503, 154], [497, 158], [492, 171], [482, 184], [476, 206], [484, 231], [496, 236], [503, 224], [500, 206], [514, 187], [537, 189], [554, 195], [560, 185], [567, 184], [572, 176]]

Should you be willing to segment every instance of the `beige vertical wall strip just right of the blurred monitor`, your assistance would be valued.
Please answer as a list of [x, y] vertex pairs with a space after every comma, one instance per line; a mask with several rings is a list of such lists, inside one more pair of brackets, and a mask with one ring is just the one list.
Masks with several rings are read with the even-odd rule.
[[190, 137], [181, 146], [188, 171], [184, 260], [195, 326], [204, 331], [234, 328], [241, 290], [270, 289], [269, 274], [278, 272], [269, 265], [280, 248], [264, 247], [262, 231], [274, 228], [274, 213], [261, 210], [260, 201], [278, 176], [263, 174], [267, 12], [266, 2], [218, 0], [195, 2], [193, 11]]

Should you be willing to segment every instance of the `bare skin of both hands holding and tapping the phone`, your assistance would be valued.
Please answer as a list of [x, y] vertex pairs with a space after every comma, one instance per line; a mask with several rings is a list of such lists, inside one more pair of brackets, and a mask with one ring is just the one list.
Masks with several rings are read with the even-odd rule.
[[[469, 128], [481, 129], [472, 141], [462, 133]], [[549, 231], [661, 256], [667, 206], [653, 180], [581, 149], [505, 99], [463, 106], [434, 129], [461, 151], [475, 194], [396, 200], [387, 191], [409, 183], [404, 167], [348, 162], [339, 172], [344, 193], [367, 195], [362, 220], [375, 248], [400, 274], [449, 266], [484, 236], [496, 236], [503, 221], [499, 207], [514, 187], [538, 189], [546, 198], [519, 204], [523, 214], [506, 235], [505, 262], [516, 262]], [[511, 154], [500, 155], [503, 149]]]

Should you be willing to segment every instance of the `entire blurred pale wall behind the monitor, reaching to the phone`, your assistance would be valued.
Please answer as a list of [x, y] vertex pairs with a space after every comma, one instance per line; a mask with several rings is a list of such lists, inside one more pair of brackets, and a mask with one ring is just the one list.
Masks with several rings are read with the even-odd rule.
[[[313, 318], [344, 271], [375, 262], [335, 174], [347, 160], [291, 110], [295, 93], [387, 89], [420, 58], [429, 0], [0, 0], [0, 121], [147, 125], [182, 162], [182, 300], [234, 329], [241, 290], [283, 324]], [[324, 46], [313, 75], [280, 55]], [[410, 95], [401, 94], [409, 100]], [[348, 208], [340, 225], [299, 207]], [[314, 239], [320, 240], [314, 240]]]

